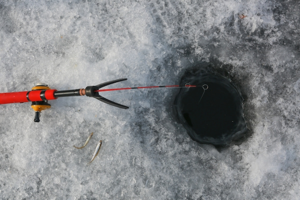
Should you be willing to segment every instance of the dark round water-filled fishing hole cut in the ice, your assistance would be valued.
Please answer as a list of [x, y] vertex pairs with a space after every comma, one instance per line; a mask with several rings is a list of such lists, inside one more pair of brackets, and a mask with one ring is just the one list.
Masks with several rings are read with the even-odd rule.
[[186, 71], [174, 105], [179, 121], [189, 136], [199, 143], [225, 146], [241, 138], [247, 130], [243, 98], [232, 81], [207, 71]]

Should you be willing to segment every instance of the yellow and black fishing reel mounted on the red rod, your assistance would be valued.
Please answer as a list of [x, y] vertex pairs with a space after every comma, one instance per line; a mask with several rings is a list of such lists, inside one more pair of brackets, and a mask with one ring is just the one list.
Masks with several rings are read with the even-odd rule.
[[[37, 83], [34, 87], [32, 87], [31, 91], [47, 90], [47, 89], [50, 89], [50, 87], [48, 87], [48, 85], [46, 85], [45, 83], [40, 82], [40, 83]], [[34, 122], [39, 122], [39, 116], [40, 116], [41, 110], [49, 109], [51, 107], [51, 105], [48, 103], [48, 100], [44, 99], [41, 101], [32, 101], [31, 107], [35, 111]]]

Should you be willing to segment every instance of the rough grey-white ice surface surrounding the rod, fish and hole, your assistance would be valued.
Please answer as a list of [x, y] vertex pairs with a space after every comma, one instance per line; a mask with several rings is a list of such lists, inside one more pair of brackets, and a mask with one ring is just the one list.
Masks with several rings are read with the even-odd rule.
[[[172, 113], [175, 88], [102, 94], [127, 110], [89, 97], [59, 98], [39, 123], [30, 103], [1, 105], [1, 199], [298, 199], [299, 6], [1, 0], [0, 92], [123, 77], [112, 86], [177, 84], [184, 69], [214, 61], [245, 95], [252, 131], [220, 151], [197, 144]], [[90, 132], [83, 149], [72, 147]]]

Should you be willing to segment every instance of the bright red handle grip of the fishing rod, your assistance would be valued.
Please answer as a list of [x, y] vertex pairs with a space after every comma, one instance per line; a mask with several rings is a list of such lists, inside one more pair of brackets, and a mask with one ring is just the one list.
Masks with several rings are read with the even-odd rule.
[[56, 99], [56, 89], [0, 93], [0, 104]]

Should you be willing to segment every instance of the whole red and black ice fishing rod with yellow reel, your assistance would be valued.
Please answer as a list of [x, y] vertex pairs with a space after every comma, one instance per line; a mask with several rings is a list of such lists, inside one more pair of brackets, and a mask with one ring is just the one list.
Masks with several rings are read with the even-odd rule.
[[[0, 104], [6, 103], [23, 103], [31, 101], [31, 107], [35, 111], [34, 121], [39, 122], [40, 111], [44, 109], [48, 109], [51, 105], [48, 103], [48, 100], [54, 100], [58, 97], [64, 96], [82, 96], [86, 95], [89, 97], [94, 97], [104, 103], [109, 105], [113, 105], [119, 108], [127, 109], [128, 107], [111, 100], [104, 98], [99, 95], [98, 92], [102, 91], [114, 91], [114, 90], [124, 90], [124, 89], [142, 89], [142, 88], [158, 88], [158, 87], [196, 87], [196, 85], [163, 85], [163, 86], [143, 86], [143, 87], [124, 87], [124, 88], [112, 88], [112, 89], [100, 89], [106, 85], [120, 82], [123, 80], [127, 80], [127, 78], [120, 78], [116, 80], [111, 80], [108, 82], [104, 82], [95, 86], [87, 86], [80, 89], [71, 89], [71, 90], [61, 90], [57, 91], [57, 89], [51, 89], [44, 83], [38, 83], [34, 87], [31, 88], [30, 91], [18, 91], [18, 92], [7, 92], [0, 93]], [[203, 87], [203, 86], [202, 86]]]

